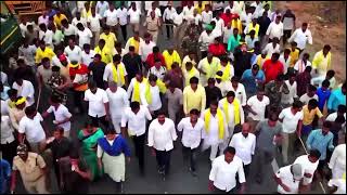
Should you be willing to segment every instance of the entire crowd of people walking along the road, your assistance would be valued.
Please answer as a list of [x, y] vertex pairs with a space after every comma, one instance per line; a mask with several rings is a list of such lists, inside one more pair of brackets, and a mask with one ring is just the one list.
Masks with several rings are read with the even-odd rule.
[[[104, 174], [124, 192], [132, 156], [144, 176], [150, 147], [165, 178], [178, 140], [193, 177], [210, 148], [211, 192], [245, 193], [252, 164], [261, 184], [280, 152], [278, 193], [325, 179], [346, 193], [347, 84], [331, 46], [307, 53], [308, 23], [267, 1], [142, 4], [55, 1], [21, 17], [22, 46], [1, 70], [1, 193], [18, 172], [28, 193], [50, 193], [51, 174], [62, 193], [88, 193]], [[72, 129], [78, 115], [86, 125]]]

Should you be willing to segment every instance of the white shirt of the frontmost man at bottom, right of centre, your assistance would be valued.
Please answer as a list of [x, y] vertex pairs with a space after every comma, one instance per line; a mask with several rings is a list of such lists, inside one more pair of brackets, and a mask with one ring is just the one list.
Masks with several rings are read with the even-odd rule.
[[236, 186], [236, 173], [240, 183], [246, 182], [241, 158], [234, 156], [233, 160], [228, 164], [224, 155], [220, 155], [213, 162], [209, 180], [217, 188], [229, 192]]

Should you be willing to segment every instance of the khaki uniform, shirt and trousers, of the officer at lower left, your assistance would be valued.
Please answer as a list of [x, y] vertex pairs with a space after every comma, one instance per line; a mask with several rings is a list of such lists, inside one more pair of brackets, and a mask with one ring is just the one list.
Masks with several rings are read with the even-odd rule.
[[18, 170], [26, 191], [30, 194], [49, 194], [46, 176], [41, 169], [46, 167], [43, 158], [36, 153], [28, 153], [26, 161], [20, 156], [13, 158], [13, 170]]

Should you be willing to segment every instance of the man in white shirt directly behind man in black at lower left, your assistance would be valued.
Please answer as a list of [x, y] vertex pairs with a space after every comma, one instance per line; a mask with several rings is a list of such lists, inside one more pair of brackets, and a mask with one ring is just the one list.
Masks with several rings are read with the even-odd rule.
[[43, 118], [47, 118], [51, 113], [54, 114], [53, 123], [64, 129], [64, 136], [69, 138], [72, 128], [72, 114], [68, 112], [57, 96], [52, 95], [50, 99], [51, 106], [42, 114]]

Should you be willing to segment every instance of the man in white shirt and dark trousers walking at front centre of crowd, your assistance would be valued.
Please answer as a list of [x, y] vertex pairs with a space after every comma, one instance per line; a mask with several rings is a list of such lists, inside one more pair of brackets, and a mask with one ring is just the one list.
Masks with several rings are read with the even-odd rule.
[[152, 154], [156, 156], [158, 172], [164, 177], [169, 172], [170, 155], [176, 140], [174, 121], [166, 118], [164, 112], [158, 112], [158, 117], [149, 128], [149, 146], [152, 148]]

